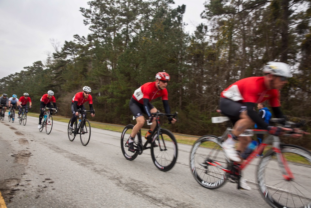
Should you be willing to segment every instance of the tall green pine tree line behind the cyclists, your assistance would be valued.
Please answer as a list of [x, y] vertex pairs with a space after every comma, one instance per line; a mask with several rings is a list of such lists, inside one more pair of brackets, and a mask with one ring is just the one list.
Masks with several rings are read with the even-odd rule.
[[[169, 104], [180, 122], [164, 125], [178, 133], [219, 135], [224, 124], [211, 124], [211, 117], [219, 116], [220, 92], [236, 80], [261, 76], [267, 62], [281, 61], [292, 72], [281, 90], [282, 110], [311, 124], [310, 0], [207, 0], [193, 34], [184, 30], [187, 7], [173, 3], [88, 2], [80, 11], [90, 34], [74, 35], [46, 62], [2, 78], [1, 92], [28, 92], [39, 112], [40, 97], [53, 90], [59, 114], [70, 116], [72, 97], [87, 85], [94, 120], [128, 124], [134, 123], [128, 108], [134, 90], [165, 70]], [[153, 104], [164, 110], [160, 99]]]

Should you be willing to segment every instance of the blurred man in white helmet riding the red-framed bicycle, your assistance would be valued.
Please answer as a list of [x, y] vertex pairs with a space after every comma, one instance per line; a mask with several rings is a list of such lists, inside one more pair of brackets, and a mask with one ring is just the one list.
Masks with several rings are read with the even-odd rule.
[[[242, 162], [241, 153], [244, 152], [251, 141], [249, 136], [239, 136], [244, 130], [250, 128], [255, 123], [267, 129], [270, 134], [279, 136], [283, 131], [291, 130], [269, 126], [255, 111], [255, 105], [265, 100], [269, 100], [276, 118], [285, 118], [280, 109], [280, 89], [287, 83], [290, 76], [289, 66], [282, 62], [269, 62], [263, 69], [265, 76], [248, 77], [239, 80], [221, 93], [220, 110], [228, 116], [233, 123], [233, 132], [223, 143], [225, 153], [232, 161], [238, 164]], [[298, 137], [293, 134], [293, 137]], [[235, 149], [234, 143], [238, 140]], [[244, 179], [240, 179], [240, 189], [251, 190]]]

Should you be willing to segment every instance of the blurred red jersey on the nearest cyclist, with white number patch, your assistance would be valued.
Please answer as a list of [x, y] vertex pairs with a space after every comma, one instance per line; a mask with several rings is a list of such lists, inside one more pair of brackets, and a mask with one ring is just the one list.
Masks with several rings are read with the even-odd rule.
[[221, 97], [242, 103], [262, 103], [270, 101], [271, 107], [279, 107], [280, 92], [277, 89], [267, 89], [264, 77], [248, 77], [239, 80], [222, 91]]

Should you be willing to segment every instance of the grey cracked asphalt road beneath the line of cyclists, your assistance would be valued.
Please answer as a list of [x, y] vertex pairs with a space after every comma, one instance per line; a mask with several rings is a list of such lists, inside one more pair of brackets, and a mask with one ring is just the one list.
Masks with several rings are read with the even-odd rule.
[[126, 160], [121, 133], [92, 128], [82, 146], [80, 138], [69, 141], [67, 123], [54, 121], [49, 135], [37, 123], [30, 116], [26, 126], [0, 121], [0, 191], [8, 208], [270, 207], [254, 182], [257, 158], [244, 171], [251, 191], [233, 183], [208, 190], [190, 172], [189, 145], [179, 144], [177, 163], [161, 172], [149, 149]]

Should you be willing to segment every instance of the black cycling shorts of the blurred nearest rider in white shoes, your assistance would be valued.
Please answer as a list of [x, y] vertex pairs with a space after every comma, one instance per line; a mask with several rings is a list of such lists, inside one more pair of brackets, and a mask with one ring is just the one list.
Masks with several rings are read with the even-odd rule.
[[227, 98], [220, 98], [220, 110], [222, 114], [228, 116], [232, 121], [237, 121], [240, 119], [241, 112], [247, 110], [247, 107], [243, 103]]

